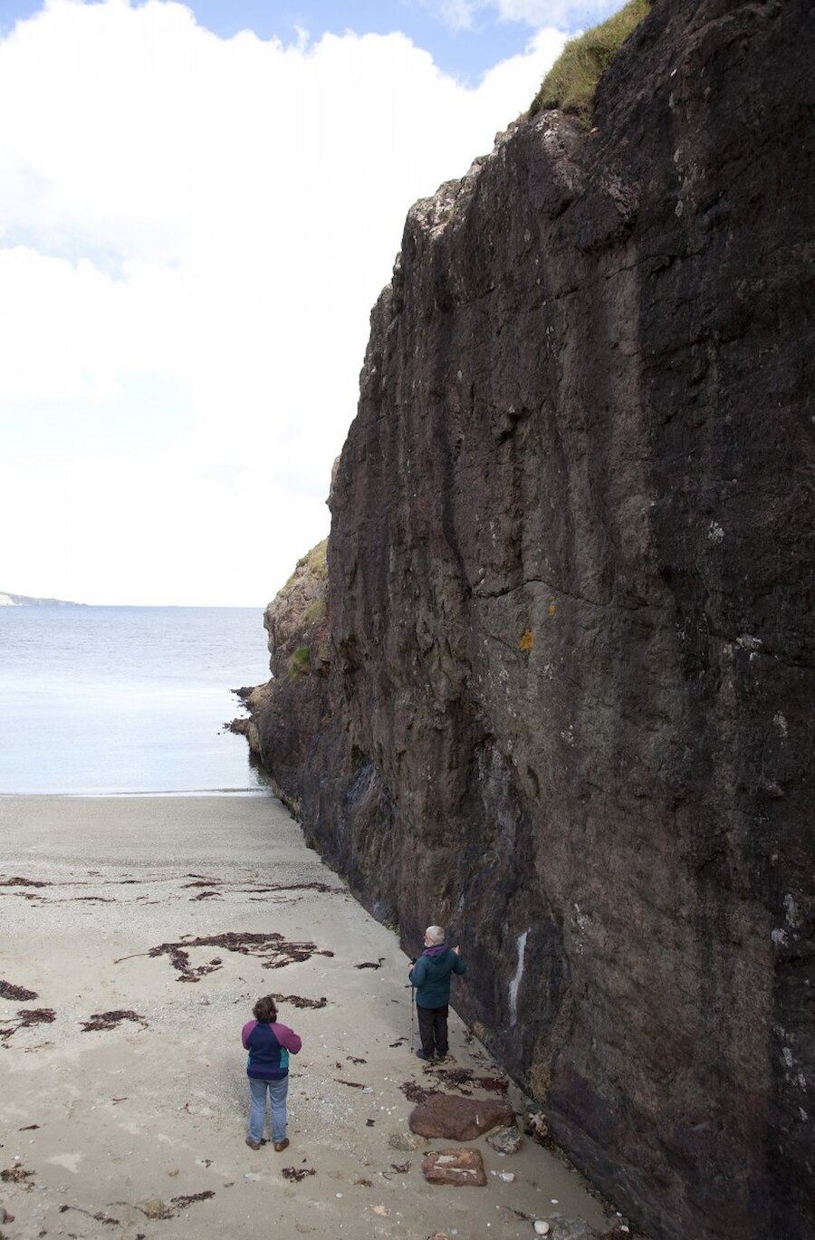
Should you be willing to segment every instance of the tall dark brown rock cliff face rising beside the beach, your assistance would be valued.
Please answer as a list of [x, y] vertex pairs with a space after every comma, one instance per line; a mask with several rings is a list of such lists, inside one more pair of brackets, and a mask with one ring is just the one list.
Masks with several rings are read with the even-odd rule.
[[407, 947], [453, 928], [464, 1017], [677, 1240], [814, 1233], [811, 26], [657, 0], [590, 134], [538, 115], [411, 211], [330, 655], [258, 719], [326, 859]]

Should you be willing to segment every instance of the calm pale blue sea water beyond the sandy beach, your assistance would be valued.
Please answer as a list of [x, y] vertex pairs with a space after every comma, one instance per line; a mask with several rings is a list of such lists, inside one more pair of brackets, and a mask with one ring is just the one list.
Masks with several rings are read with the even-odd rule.
[[223, 724], [268, 678], [261, 609], [0, 606], [0, 794], [258, 789]]

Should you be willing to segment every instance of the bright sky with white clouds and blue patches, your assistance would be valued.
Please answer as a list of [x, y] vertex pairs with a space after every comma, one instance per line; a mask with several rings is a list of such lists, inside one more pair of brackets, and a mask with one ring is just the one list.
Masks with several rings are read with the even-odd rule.
[[0, 591], [258, 606], [404, 216], [615, 0], [0, 0]]

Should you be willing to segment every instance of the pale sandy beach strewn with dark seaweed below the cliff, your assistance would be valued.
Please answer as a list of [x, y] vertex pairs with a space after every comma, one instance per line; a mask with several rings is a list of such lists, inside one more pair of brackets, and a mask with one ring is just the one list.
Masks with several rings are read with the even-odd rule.
[[[17, 878], [46, 885], [10, 883]], [[411, 1053], [407, 957], [268, 795], [1, 797], [0, 884], [0, 978], [37, 996], [0, 998], [0, 1029], [15, 1027], [20, 1009], [53, 1011], [51, 1022], [0, 1037], [0, 1208], [14, 1215], [0, 1233], [9, 1240], [418, 1240], [437, 1230], [509, 1240], [532, 1236], [531, 1219], [558, 1215], [603, 1229], [605, 1211], [581, 1177], [533, 1141], [514, 1156], [474, 1142], [486, 1188], [429, 1185], [422, 1154], [388, 1145], [408, 1130], [403, 1084], [433, 1080]], [[264, 968], [289, 957], [191, 947], [191, 967], [220, 967], [186, 983], [169, 954], [146, 955], [225, 932], [278, 932], [318, 951]], [[366, 962], [380, 967], [359, 967]], [[280, 1019], [303, 1037], [282, 1154], [244, 1143], [239, 1030], [269, 992], [327, 999], [280, 1003]], [[144, 1023], [83, 1032], [110, 1011]], [[458, 1066], [497, 1074], [455, 1017], [450, 1034]], [[522, 1112], [522, 1095], [511, 1086], [509, 1096]], [[290, 1182], [285, 1167], [314, 1174]], [[151, 1216], [155, 1203], [167, 1216]]]

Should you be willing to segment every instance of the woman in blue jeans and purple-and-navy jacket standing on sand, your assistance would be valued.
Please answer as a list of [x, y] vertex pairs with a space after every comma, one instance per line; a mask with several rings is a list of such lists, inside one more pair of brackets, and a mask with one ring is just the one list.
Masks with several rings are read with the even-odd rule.
[[264, 994], [252, 1008], [254, 1021], [247, 1022], [241, 1030], [241, 1042], [249, 1052], [247, 1076], [252, 1107], [249, 1110], [249, 1136], [247, 1146], [261, 1148], [263, 1121], [265, 1118], [265, 1092], [269, 1091], [272, 1104], [272, 1141], [278, 1153], [288, 1146], [285, 1135], [285, 1096], [289, 1091], [289, 1052], [296, 1055], [303, 1042], [289, 1029], [288, 1024], [278, 1024], [277, 1003], [270, 994]]

